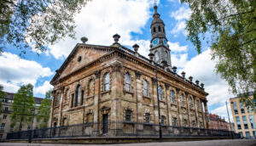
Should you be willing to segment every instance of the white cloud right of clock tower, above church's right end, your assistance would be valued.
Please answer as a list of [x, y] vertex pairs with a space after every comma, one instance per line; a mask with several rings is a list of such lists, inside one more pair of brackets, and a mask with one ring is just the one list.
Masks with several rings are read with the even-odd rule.
[[199, 80], [205, 84], [205, 90], [209, 95], [207, 96], [208, 105], [224, 104], [226, 100], [234, 95], [230, 94], [229, 86], [220, 75], [214, 71], [216, 62], [212, 60], [211, 50], [195, 56], [184, 66], [183, 70], [186, 76], [193, 76], [194, 81]]

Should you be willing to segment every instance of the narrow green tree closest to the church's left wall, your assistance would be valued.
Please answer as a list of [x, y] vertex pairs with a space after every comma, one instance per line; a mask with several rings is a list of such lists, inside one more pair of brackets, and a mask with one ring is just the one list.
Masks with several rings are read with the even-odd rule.
[[49, 113], [50, 113], [50, 107], [51, 107], [51, 98], [52, 98], [52, 91], [48, 91], [45, 94], [44, 100], [41, 102], [39, 108], [38, 108], [38, 116], [37, 119], [39, 121], [43, 120], [40, 124], [40, 128], [47, 127], [47, 121], [49, 121]]

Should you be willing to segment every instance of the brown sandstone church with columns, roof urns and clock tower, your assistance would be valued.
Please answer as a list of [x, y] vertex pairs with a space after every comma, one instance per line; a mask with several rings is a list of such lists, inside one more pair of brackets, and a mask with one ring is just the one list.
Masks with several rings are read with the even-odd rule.
[[156, 6], [153, 18], [150, 59], [137, 52], [137, 44], [133, 50], [122, 46], [117, 34], [110, 46], [86, 44], [87, 38], [81, 38], [83, 43], [50, 81], [54, 98], [49, 127], [97, 121], [158, 124], [159, 119], [166, 126], [208, 127], [204, 85], [184, 72], [177, 75]]

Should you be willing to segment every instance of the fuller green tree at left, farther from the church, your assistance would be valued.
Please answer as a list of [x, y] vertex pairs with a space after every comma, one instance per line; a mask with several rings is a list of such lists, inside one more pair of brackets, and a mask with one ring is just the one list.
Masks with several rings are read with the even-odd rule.
[[19, 131], [23, 122], [32, 123], [35, 101], [33, 98], [33, 86], [31, 84], [21, 86], [18, 92], [15, 93], [12, 110], [14, 112], [11, 114], [11, 125], [15, 126], [19, 123]]

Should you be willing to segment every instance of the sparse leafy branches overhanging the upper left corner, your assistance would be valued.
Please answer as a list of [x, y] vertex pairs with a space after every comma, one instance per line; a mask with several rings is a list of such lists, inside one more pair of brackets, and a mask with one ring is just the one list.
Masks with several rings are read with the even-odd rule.
[[[20, 54], [33, 46], [45, 51], [64, 36], [74, 38], [74, 16], [90, 0], [3, 0], [0, 3], [0, 52], [9, 43]], [[31, 43], [31, 44], [29, 44]]]

